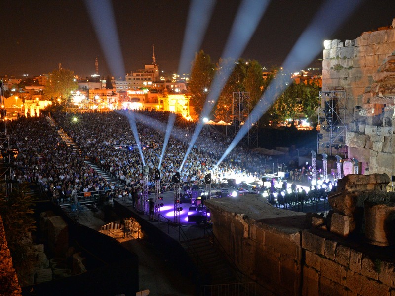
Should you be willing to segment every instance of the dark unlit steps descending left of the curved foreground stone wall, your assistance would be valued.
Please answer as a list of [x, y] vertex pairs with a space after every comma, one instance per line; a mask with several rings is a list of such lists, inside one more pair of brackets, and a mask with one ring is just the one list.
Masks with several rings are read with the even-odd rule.
[[208, 237], [183, 242], [182, 246], [197, 267], [200, 278], [209, 280], [212, 285], [238, 282], [236, 271]]

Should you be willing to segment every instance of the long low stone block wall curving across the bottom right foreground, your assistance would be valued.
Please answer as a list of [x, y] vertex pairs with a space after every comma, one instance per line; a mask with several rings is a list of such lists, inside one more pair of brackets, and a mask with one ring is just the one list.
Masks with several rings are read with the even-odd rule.
[[395, 295], [393, 260], [330, 232], [284, 227], [305, 216], [254, 221], [209, 208], [214, 235], [239, 270], [274, 295]]

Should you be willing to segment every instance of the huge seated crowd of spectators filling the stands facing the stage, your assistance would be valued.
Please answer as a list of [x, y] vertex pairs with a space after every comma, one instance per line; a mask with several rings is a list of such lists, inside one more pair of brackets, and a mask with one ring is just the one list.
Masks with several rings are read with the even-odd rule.
[[[52, 126], [44, 116], [21, 117], [9, 122], [9, 138], [18, 147], [18, 155], [11, 167], [12, 176], [18, 182], [40, 182], [43, 190], [55, 201], [70, 199], [74, 193], [110, 191], [107, 199], [131, 195], [143, 183], [143, 162], [138, 149], [119, 149], [119, 146], [135, 145], [130, 126], [131, 111], [86, 112], [75, 114], [56, 113], [52, 117], [57, 126]], [[150, 169], [149, 183], [154, 184], [154, 171], [158, 168], [166, 131], [153, 128], [152, 122], [165, 126], [170, 112], [134, 111], [141, 143], [152, 148], [142, 150], [145, 164]], [[77, 120], [72, 118], [77, 116]], [[155, 124], [154, 124], [155, 126]], [[57, 130], [62, 127], [74, 140], [81, 153], [62, 141]], [[171, 189], [172, 177], [180, 170], [196, 123], [177, 118], [170, 141], [161, 161], [161, 183]], [[180, 170], [182, 182], [204, 181], [212, 173], [213, 182], [235, 175], [254, 177], [257, 180], [268, 166], [265, 158], [237, 146], [215, 166], [228, 147], [231, 139], [212, 127], [204, 126], [197, 141]], [[120, 189], [107, 182], [84, 162], [85, 158], [99, 165], [117, 183], [129, 189]], [[115, 192], [115, 190], [118, 190]]]

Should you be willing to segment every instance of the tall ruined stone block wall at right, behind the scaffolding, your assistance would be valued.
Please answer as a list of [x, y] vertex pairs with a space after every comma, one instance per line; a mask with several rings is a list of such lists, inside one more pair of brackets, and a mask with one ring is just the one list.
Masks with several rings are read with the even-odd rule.
[[395, 175], [395, 19], [355, 40], [324, 43], [322, 90], [346, 91], [348, 158], [360, 173]]

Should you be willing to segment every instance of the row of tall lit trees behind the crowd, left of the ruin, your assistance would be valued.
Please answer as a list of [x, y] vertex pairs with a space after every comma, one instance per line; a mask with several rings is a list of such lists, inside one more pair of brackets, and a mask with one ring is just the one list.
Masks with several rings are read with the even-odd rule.
[[[191, 79], [188, 90], [191, 101], [197, 114], [203, 109], [204, 103], [210, 91], [210, 86], [216, 73], [227, 67], [226, 60], [220, 59], [213, 63], [208, 54], [200, 50], [192, 65]], [[273, 79], [283, 79], [283, 75], [276, 75], [279, 70], [275, 67], [269, 72], [267, 79], [262, 77], [262, 66], [256, 60], [245, 61], [239, 59], [235, 62], [234, 70], [227, 80], [225, 87], [219, 95], [211, 116], [216, 120], [229, 121], [232, 112], [232, 101], [234, 92], [249, 92], [250, 111], [262, 97]], [[319, 86], [316, 84], [297, 84], [293, 81], [260, 119], [261, 126], [276, 126], [287, 119], [308, 119], [316, 124], [316, 109], [318, 108]]]

